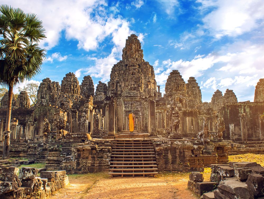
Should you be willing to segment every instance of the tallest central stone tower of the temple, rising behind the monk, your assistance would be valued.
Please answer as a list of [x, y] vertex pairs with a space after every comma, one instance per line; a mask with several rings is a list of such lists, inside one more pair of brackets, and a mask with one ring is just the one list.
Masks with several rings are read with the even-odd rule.
[[108, 93], [108, 135], [128, 131], [128, 115], [135, 111], [135, 131], [157, 135], [156, 104], [157, 82], [153, 66], [143, 59], [138, 37], [126, 39], [122, 60], [112, 67]]

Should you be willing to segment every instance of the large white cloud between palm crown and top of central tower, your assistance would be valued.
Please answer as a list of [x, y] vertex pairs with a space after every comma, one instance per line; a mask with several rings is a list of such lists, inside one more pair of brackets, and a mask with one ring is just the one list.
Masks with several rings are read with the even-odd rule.
[[26, 13], [37, 13], [46, 29], [47, 38], [41, 45], [48, 50], [58, 44], [62, 31], [67, 39], [78, 41], [78, 48], [96, 50], [107, 36], [112, 36], [128, 23], [122, 16], [113, 15], [118, 12], [118, 3], [109, 13], [105, 0], [51, 0], [49, 3], [44, 0], [34, 3], [30, 0], [3, 0], [1, 3], [19, 7]]

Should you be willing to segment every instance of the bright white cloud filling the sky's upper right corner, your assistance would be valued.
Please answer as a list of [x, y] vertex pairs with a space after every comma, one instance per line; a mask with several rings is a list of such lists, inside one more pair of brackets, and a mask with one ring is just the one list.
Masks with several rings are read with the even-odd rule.
[[263, 0], [197, 0], [201, 11], [212, 10], [203, 18], [204, 28], [209, 29], [215, 38], [225, 35], [237, 36], [259, 26], [264, 19]]

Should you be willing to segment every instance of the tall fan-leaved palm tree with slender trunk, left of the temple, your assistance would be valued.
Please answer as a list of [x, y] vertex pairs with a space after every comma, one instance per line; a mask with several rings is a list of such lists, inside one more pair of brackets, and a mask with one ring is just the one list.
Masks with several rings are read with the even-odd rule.
[[13, 87], [40, 72], [46, 54], [38, 43], [45, 38], [44, 32], [42, 21], [35, 14], [26, 14], [20, 8], [7, 5], [0, 6], [0, 84], [8, 88], [2, 159], [9, 158]]

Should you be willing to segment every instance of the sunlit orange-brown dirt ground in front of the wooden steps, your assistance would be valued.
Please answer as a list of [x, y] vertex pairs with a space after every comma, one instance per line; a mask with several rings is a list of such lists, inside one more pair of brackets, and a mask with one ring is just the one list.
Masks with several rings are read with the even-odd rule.
[[155, 177], [135, 178], [111, 178], [107, 173], [74, 174], [69, 175], [70, 185], [50, 198], [197, 199], [199, 197], [187, 189], [188, 178], [188, 173], [161, 173]]

